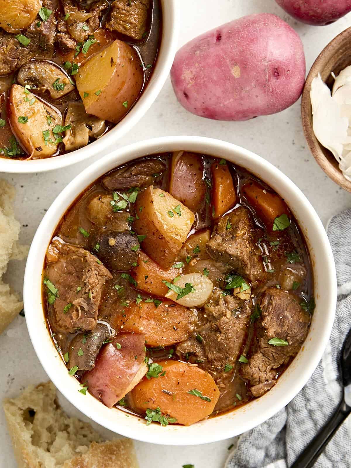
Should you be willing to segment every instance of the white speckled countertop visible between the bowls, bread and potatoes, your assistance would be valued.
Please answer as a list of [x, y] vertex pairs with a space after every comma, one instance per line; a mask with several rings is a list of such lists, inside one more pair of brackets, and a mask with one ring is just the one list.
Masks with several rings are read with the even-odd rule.
[[[329, 26], [308, 26], [285, 14], [274, 0], [178, 0], [178, 3], [183, 11], [179, 46], [208, 29], [240, 16], [275, 13], [300, 34], [305, 47], [307, 71], [323, 47], [349, 27], [351, 20], [349, 14]], [[306, 147], [301, 127], [300, 101], [276, 115], [258, 117], [248, 122], [217, 122], [187, 113], [177, 103], [168, 79], [148, 114], [118, 144], [123, 146], [137, 140], [175, 134], [223, 139], [263, 156], [300, 187], [324, 224], [331, 215], [351, 206], [351, 195], [322, 172]], [[13, 183], [17, 190], [15, 209], [23, 226], [20, 238], [22, 243], [30, 243], [53, 199], [89, 162], [93, 162], [93, 159], [46, 174], [0, 175]], [[5, 281], [21, 294], [24, 265], [25, 262], [11, 262], [5, 275]], [[30, 383], [46, 379], [30, 343], [25, 320], [18, 316], [0, 336], [0, 400], [5, 396], [16, 395]], [[62, 403], [70, 414], [77, 415], [77, 410], [67, 402]], [[205, 446], [176, 447], [136, 442], [136, 449], [141, 468], [161, 465], [181, 468], [186, 463], [194, 464], [195, 468], [222, 468], [230, 444], [231, 440], [224, 440]], [[16, 467], [2, 409], [0, 467]]]

